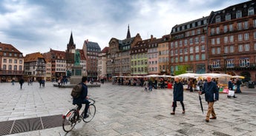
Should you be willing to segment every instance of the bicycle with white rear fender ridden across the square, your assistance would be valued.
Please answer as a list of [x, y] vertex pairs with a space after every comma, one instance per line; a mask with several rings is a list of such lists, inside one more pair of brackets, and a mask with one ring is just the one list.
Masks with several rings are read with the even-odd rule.
[[87, 115], [89, 115], [88, 118], [83, 118], [85, 115], [85, 109], [83, 109], [82, 113], [78, 116], [79, 110], [77, 105], [75, 108], [68, 110], [68, 112], [65, 115], [62, 115], [62, 129], [65, 132], [70, 132], [76, 126], [76, 123], [80, 123], [81, 120], [83, 120], [85, 123], [88, 123], [91, 120], [93, 120], [94, 115], [96, 113], [96, 106], [94, 105], [95, 101], [92, 98], [89, 98], [88, 101], [91, 102], [89, 104], [87, 112]]

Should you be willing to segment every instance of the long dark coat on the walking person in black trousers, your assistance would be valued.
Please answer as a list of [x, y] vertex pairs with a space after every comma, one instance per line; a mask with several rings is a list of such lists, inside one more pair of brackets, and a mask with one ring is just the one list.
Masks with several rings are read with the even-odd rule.
[[174, 84], [174, 101], [183, 101], [183, 84]]

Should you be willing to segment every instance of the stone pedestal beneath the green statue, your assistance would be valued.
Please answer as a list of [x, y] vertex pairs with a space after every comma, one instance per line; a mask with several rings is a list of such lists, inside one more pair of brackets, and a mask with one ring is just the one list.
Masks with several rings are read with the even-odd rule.
[[70, 84], [79, 84], [82, 81], [82, 66], [73, 66]]

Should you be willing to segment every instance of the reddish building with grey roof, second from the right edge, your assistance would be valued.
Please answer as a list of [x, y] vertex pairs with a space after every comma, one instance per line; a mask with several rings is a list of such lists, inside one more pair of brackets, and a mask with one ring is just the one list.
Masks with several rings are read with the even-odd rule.
[[171, 75], [179, 66], [188, 72], [205, 73], [207, 68], [206, 32], [208, 17], [178, 24], [171, 30], [169, 65]]

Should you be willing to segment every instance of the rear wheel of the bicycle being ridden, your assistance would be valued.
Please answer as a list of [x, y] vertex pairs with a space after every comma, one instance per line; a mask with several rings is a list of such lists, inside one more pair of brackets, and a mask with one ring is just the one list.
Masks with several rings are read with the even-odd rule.
[[62, 128], [65, 132], [70, 132], [73, 127], [76, 126], [76, 109], [70, 109], [68, 113], [62, 117], [63, 122], [62, 122]]

